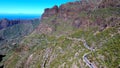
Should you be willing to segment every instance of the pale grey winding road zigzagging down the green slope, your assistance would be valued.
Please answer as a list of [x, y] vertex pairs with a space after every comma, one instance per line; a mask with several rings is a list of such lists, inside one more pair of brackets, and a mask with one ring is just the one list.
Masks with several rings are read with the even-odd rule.
[[77, 39], [77, 38], [71, 38], [71, 37], [67, 37], [67, 39], [76, 40], [76, 41], [82, 41], [84, 47], [87, 48], [88, 50], [90, 50], [90, 52], [85, 53], [85, 54], [83, 55], [83, 61], [89, 66], [89, 68], [97, 68], [96, 65], [93, 64], [92, 62], [90, 62], [89, 59], [87, 58], [87, 56], [88, 56], [92, 51], [95, 51], [95, 50], [94, 50], [93, 48], [90, 48], [85, 40]]

